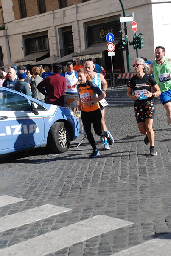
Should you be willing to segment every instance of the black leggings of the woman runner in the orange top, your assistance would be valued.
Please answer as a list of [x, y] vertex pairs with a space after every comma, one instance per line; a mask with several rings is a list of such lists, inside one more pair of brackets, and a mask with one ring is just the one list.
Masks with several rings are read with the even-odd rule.
[[91, 124], [93, 124], [94, 131], [97, 135], [102, 135], [108, 137], [107, 132], [101, 130], [101, 110], [100, 108], [95, 111], [81, 111], [81, 119], [84, 125], [84, 130], [87, 135], [87, 139], [93, 149], [97, 149], [95, 145], [95, 140], [91, 131]]

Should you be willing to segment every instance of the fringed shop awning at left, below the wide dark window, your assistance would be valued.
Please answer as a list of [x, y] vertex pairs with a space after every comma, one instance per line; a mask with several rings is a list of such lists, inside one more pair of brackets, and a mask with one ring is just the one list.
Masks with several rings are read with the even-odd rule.
[[43, 57], [48, 57], [49, 51], [44, 51], [44, 52], [33, 52], [21, 60], [16, 61], [16, 66], [19, 65], [34, 65], [37, 61], [40, 61], [40, 58]]

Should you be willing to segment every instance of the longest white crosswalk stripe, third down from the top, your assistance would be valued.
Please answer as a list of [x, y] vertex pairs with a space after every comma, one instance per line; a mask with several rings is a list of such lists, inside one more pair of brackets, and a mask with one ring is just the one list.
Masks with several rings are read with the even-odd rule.
[[59, 230], [31, 238], [0, 250], [3, 256], [44, 256], [91, 237], [132, 225], [132, 222], [98, 215]]

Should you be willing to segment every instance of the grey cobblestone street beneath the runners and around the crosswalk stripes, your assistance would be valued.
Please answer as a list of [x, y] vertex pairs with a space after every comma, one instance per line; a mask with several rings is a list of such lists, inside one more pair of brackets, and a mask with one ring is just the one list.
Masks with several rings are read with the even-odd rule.
[[[95, 135], [99, 158], [89, 159], [92, 149], [87, 139], [76, 148], [82, 135], [63, 154], [48, 154], [45, 148], [41, 148], [28, 155], [20, 154], [17, 158], [7, 157], [1, 163], [0, 196], [24, 200], [0, 207], [2, 224], [4, 216], [46, 204], [67, 209], [58, 215], [35, 217], [35, 220], [23, 225], [4, 228], [0, 231], [0, 255], [24, 256], [26, 254], [22, 254], [22, 251], [19, 254], [17, 249], [17, 254], [7, 253], [6, 248], [35, 237], [41, 239], [43, 234], [47, 235], [46, 248], [51, 250], [47, 249], [46, 254], [34, 254], [28, 250], [28, 255], [115, 255], [170, 233], [171, 128], [160, 100], [155, 102], [156, 157], [149, 156], [149, 145], [144, 144], [144, 136], [137, 128], [133, 103], [127, 102], [106, 107], [107, 129], [114, 135], [115, 142], [111, 150], [103, 151], [103, 144]], [[98, 215], [112, 217], [109, 223], [117, 219], [116, 226], [111, 222], [106, 227], [108, 220], [100, 218], [97, 220], [100, 222], [92, 224], [95, 228], [84, 235], [81, 221]], [[76, 223], [80, 224], [69, 227]], [[88, 224], [85, 224], [87, 229]], [[96, 232], [99, 226], [102, 230]], [[62, 241], [59, 247], [53, 249], [49, 234], [59, 229], [62, 231], [64, 227], [64, 234], [54, 233], [54, 244], [61, 237]], [[73, 239], [70, 241], [65, 232], [72, 229], [75, 233], [70, 235]], [[43, 247], [43, 243], [39, 246]], [[25, 244], [23, 246], [25, 248]], [[146, 254], [146, 246], [142, 250], [142, 255], [149, 255]], [[155, 255], [168, 256], [170, 253], [166, 251]]]

